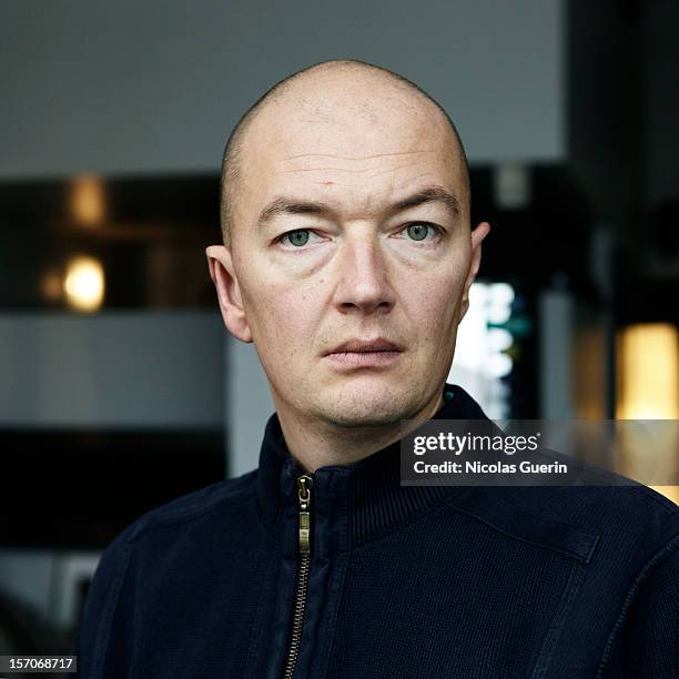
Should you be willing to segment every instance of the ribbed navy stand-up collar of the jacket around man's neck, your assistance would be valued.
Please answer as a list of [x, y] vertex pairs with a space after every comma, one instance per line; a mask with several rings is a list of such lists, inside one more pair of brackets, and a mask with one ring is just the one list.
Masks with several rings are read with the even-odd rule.
[[[444, 403], [432, 419], [487, 419], [487, 416], [465, 389], [446, 384]], [[262, 518], [273, 533], [282, 519], [284, 506], [295, 501], [295, 480], [303, 473], [287, 449], [278, 416], [274, 413], [266, 423], [257, 474]], [[352, 545], [369, 540], [464, 489], [460, 486], [402, 486], [399, 440], [348, 465], [318, 467], [312, 477], [316, 498], [336, 501], [342, 507], [340, 511], [347, 515], [342, 518], [348, 523]]]

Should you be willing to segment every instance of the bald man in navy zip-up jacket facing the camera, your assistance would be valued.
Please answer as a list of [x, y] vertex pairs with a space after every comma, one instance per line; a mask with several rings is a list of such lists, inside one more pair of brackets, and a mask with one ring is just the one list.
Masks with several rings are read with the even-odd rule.
[[224, 154], [227, 331], [275, 414], [259, 468], [104, 553], [79, 653], [102, 677], [670, 677], [679, 514], [643, 487], [401, 486], [401, 420], [486, 416], [446, 384], [487, 223], [405, 79], [324, 62]]

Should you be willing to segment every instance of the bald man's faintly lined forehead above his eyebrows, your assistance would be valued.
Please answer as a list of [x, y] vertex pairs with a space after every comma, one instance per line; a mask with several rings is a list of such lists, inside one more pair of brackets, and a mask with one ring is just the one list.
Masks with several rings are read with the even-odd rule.
[[251, 215], [278, 195], [372, 209], [419, 186], [459, 190], [460, 162], [445, 116], [424, 98], [291, 98], [247, 130], [239, 202]]

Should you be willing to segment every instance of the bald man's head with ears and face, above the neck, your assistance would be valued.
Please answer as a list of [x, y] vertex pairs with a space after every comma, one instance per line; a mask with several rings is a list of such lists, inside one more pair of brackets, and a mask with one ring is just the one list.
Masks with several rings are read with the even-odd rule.
[[[348, 427], [415, 416], [448, 374], [489, 229], [470, 232], [466, 159], [443, 109], [372, 64], [316, 64], [243, 116], [222, 182], [210, 271], [276, 409]], [[326, 355], [377, 337], [399, 353], [369, 366]]]

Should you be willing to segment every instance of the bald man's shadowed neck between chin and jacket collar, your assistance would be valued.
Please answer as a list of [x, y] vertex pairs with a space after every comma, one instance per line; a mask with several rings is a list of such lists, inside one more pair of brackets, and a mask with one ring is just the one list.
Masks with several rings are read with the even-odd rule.
[[[443, 405], [443, 385], [414, 415], [404, 414], [396, 422], [365, 427], [346, 427], [327, 419], [310, 417], [286, 407], [274, 393], [274, 404], [287, 449], [307, 473], [326, 465], [347, 465], [372, 455], [401, 439], [408, 430], [430, 419]], [[413, 420], [402, 429], [401, 419]]]

